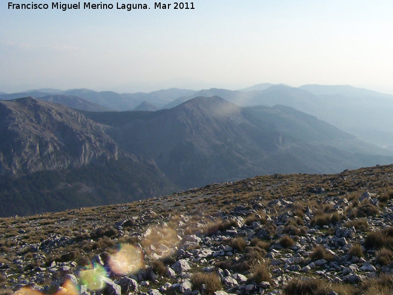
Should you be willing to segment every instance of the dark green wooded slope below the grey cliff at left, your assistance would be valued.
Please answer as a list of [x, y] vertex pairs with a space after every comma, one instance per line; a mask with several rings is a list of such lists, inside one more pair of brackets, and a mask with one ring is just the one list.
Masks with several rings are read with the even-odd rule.
[[160, 197], [176, 187], [153, 164], [122, 158], [0, 179], [0, 216], [32, 215]]

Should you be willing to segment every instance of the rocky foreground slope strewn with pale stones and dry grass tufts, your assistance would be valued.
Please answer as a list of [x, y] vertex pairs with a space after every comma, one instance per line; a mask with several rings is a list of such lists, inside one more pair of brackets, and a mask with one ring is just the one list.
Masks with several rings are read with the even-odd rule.
[[392, 199], [377, 166], [3, 218], [1, 293], [392, 294]]

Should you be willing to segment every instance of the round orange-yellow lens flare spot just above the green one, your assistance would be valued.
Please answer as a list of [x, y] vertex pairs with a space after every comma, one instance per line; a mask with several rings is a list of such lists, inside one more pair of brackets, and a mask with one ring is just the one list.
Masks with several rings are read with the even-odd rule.
[[122, 244], [119, 251], [111, 256], [109, 266], [117, 275], [135, 273], [143, 266], [142, 252], [133, 245]]

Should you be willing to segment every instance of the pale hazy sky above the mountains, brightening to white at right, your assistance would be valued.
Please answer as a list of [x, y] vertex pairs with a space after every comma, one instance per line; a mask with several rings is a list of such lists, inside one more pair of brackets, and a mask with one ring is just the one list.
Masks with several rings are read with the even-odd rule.
[[[343, 85], [393, 93], [390, 0], [194, 0], [193, 10], [8, 9], [0, 91]], [[63, 0], [62, 3], [77, 3]], [[100, 3], [101, 1], [90, 1]], [[14, 0], [13, 3], [31, 3]], [[162, 2], [174, 3], [174, 2]], [[191, 2], [189, 2], [191, 3]], [[173, 4], [172, 6], [173, 7]]]

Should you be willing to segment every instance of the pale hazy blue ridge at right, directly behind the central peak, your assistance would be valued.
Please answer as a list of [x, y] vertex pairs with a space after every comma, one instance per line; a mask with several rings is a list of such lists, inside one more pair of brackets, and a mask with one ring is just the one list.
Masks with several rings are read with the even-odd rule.
[[[329, 90], [327, 93], [338, 92], [338, 94], [317, 95], [303, 87], [294, 88], [284, 85], [273, 85], [262, 91], [246, 92], [213, 88], [178, 98], [166, 108], [172, 108], [200, 95], [220, 96], [239, 106], [273, 107], [281, 104], [316, 116], [374, 145], [390, 147], [393, 150], [393, 132], [390, 128], [393, 126], [393, 118], [390, 116], [393, 111], [392, 95], [352, 87], [312, 87], [318, 91], [325, 88]], [[352, 96], [348, 96], [350, 93]]]

